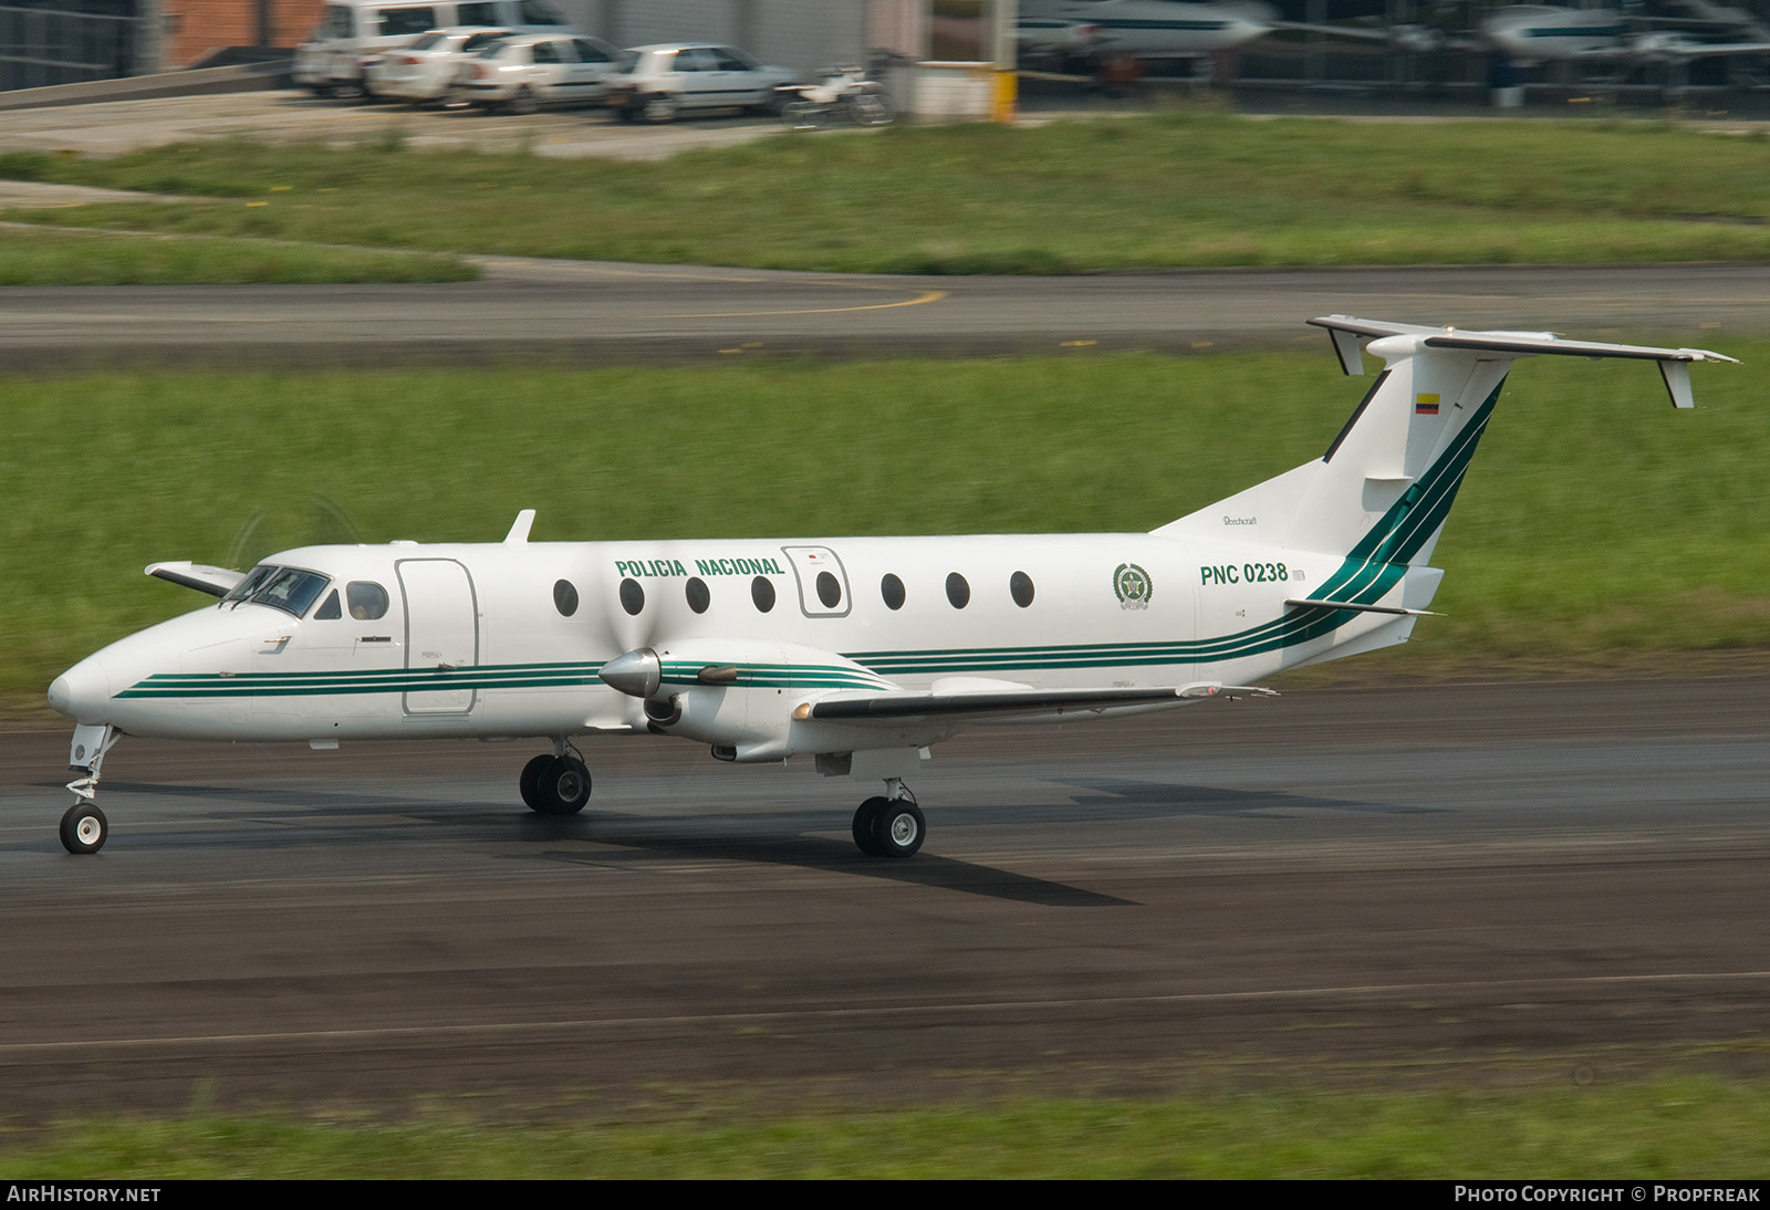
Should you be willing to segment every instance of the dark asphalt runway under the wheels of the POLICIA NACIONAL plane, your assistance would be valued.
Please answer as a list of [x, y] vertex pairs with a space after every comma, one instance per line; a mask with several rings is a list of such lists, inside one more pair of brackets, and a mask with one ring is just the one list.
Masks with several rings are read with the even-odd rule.
[[5, 1113], [1152, 1093], [1770, 1065], [1770, 678], [1297, 690], [864, 785], [696, 745], [0, 738]]

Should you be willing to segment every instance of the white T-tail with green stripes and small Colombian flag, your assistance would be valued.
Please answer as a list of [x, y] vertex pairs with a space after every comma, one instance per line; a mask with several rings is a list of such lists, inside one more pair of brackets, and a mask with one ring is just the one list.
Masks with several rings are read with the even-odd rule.
[[1692, 407], [1692, 361], [1735, 361], [1706, 348], [1609, 345], [1552, 333], [1478, 333], [1349, 315], [1310, 324], [1328, 329], [1345, 373], [1365, 371], [1361, 340], [1384, 363], [1340, 435], [1315, 462], [1154, 532], [1223, 541], [1223, 527], [1230, 524], [1241, 541], [1338, 557], [1333, 575], [1287, 601], [1296, 610], [1287, 621], [1317, 635], [1361, 614], [1366, 621], [1377, 621], [1370, 614], [1389, 614], [1397, 624], [1381, 640], [1342, 640], [1333, 656], [1405, 639], [1412, 617], [1432, 601], [1443, 575], [1428, 566], [1432, 550], [1513, 361], [1535, 356], [1653, 361], [1680, 409]]

